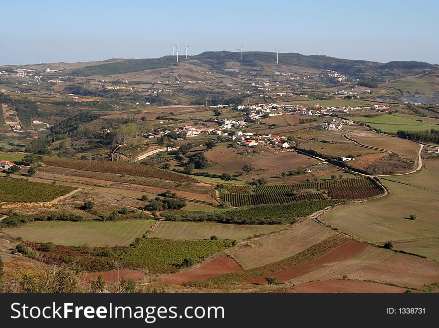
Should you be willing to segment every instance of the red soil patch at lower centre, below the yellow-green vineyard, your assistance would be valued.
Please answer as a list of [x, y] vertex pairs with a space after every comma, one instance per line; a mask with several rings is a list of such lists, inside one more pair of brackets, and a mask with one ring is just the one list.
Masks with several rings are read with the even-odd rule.
[[238, 266], [235, 260], [229, 257], [219, 257], [212, 261], [205, 263], [195, 269], [165, 276], [159, 284], [166, 285], [181, 285], [193, 280], [202, 280], [222, 274], [241, 271], [242, 268]]

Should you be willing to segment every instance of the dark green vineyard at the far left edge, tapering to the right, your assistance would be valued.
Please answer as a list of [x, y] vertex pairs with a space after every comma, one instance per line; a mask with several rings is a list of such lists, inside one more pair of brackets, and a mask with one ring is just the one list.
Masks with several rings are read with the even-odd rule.
[[0, 202], [48, 202], [75, 189], [69, 186], [2, 177], [0, 178]]

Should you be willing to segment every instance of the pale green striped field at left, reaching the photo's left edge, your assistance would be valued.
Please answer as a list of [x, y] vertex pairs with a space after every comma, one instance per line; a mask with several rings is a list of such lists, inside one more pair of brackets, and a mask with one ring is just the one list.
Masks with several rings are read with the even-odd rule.
[[13, 237], [33, 242], [52, 242], [65, 246], [91, 247], [129, 245], [151, 228], [153, 220], [28, 223], [20, 228], [4, 228]]

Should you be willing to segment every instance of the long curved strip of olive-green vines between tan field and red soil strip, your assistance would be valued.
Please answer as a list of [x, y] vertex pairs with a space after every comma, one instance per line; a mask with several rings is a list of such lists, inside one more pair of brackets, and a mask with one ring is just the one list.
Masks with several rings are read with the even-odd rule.
[[331, 236], [322, 242], [315, 244], [306, 250], [293, 255], [289, 258], [263, 265], [250, 270], [238, 271], [228, 274], [223, 274], [217, 277], [208, 278], [206, 280], [199, 280], [186, 283], [188, 286], [196, 287], [212, 287], [220, 285], [228, 285], [233, 282], [241, 282], [252, 278], [267, 277], [282, 270], [288, 270], [309, 261], [318, 259], [330, 252], [331, 250], [343, 245], [349, 241], [349, 237], [339, 234]]

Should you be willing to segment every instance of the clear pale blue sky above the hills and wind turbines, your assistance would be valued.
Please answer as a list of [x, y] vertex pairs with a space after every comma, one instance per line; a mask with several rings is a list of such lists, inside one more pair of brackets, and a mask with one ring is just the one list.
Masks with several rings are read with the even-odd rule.
[[1, 1], [0, 65], [259, 50], [439, 63], [437, 0]]

